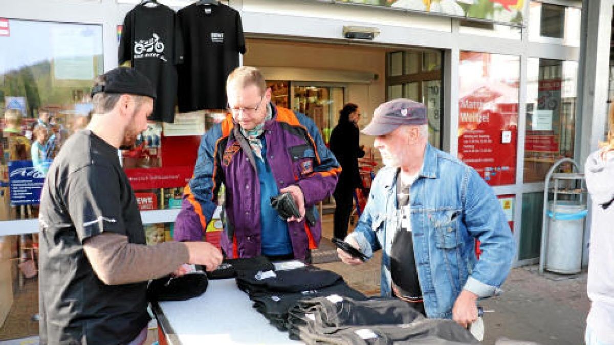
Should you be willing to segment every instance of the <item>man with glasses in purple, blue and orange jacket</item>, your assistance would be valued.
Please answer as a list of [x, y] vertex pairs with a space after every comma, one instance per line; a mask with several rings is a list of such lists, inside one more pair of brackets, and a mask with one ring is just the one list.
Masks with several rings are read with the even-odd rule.
[[[310, 118], [271, 103], [258, 69], [235, 69], [226, 93], [230, 114], [201, 138], [174, 238], [203, 238], [223, 184], [226, 257], [309, 263], [322, 235], [315, 206], [335, 189], [340, 166]], [[285, 192], [300, 218], [283, 220], [271, 207], [270, 198]]]

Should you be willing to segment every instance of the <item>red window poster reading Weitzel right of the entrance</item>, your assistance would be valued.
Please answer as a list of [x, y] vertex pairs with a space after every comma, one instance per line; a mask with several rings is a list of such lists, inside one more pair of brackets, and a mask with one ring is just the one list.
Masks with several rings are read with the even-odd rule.
[[461, 52], [459, 158], [490, 185], [516, 181], [517, 56]]

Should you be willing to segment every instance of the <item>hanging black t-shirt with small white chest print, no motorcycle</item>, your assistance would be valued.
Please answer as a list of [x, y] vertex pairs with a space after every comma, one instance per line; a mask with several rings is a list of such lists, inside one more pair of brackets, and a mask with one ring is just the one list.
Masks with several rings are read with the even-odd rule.
[[226, 108], [226, 78], [246, 52], [241, 16], [224, 4], [194, 3], [177, 12], [184, 37], [179, 112]]

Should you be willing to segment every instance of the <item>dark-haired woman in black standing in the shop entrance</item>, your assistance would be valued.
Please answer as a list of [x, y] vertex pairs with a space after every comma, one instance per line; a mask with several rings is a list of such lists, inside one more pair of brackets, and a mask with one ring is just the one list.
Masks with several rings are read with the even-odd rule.
[[365, 155], [359, 144], [360, 133], [357, 122], [360, 110], [356, 104], [348, 103], [339, 112], [339, 124], [330, 134], [330, 150], [341, 165], [339, 182], [333, 192], [335, 214], [333, 218], [333, 236], [345, 239], [348, 234], [349, 217], [352, 214], [354, 188], [362, 187], [358, 158]]

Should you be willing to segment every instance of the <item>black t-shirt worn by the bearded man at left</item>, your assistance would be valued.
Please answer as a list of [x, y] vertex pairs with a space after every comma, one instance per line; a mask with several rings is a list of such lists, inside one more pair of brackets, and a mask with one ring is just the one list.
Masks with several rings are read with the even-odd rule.
[[84, 250], [103, 232], [145, 244], [117, 149], [88, 130], [72, 134], [47, 172], [39, 219], [41, 344], [130, 343], [150, 320], [147, 282], [104, 284]]

